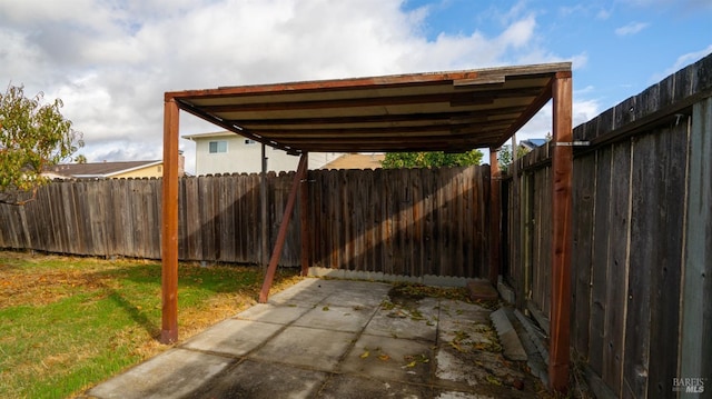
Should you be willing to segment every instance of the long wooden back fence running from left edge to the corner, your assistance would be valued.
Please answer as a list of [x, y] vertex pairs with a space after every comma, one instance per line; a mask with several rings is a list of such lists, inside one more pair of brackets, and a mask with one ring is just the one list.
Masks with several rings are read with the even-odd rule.
[[[276, 239], [294, 173], [267, 176]], [[309, 171], [314, 266], [404, 276], [486, 276], [490, 168]], [[259, 263], [259, 174], [185, 178], [179, 258]], [[0, 206], [0, 248], [160, 258], [160, 179], [55, 181]], [[296, 209], [300, 209], [299, 206]], [[280, 265], [299, 266], [300, 218]]]

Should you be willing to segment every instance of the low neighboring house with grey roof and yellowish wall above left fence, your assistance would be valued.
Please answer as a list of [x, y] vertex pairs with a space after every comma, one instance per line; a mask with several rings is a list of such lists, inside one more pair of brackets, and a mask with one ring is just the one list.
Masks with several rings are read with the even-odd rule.
[[[184, 176], [184, 158], [179, 158], [179, 176]], [[47, 168], [42, 173], [50, 179], [128, 179], [160, 178], [164, 176], [164, 161], [125, 161], [60, 163]]]

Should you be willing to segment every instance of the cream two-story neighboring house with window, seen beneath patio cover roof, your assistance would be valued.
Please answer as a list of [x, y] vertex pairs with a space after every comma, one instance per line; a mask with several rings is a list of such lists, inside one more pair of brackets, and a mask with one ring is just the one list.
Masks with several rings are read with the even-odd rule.
[[[261, 144], [230, 131], [182, 136], [196, 143], [196, 174], [258, 173], [263, 170]], [[338, 158], [336, 152], [309, 152], [309, 169], [319, 169]], [[294, 171], [299, 157], [267, 147], [267, 170]]]

